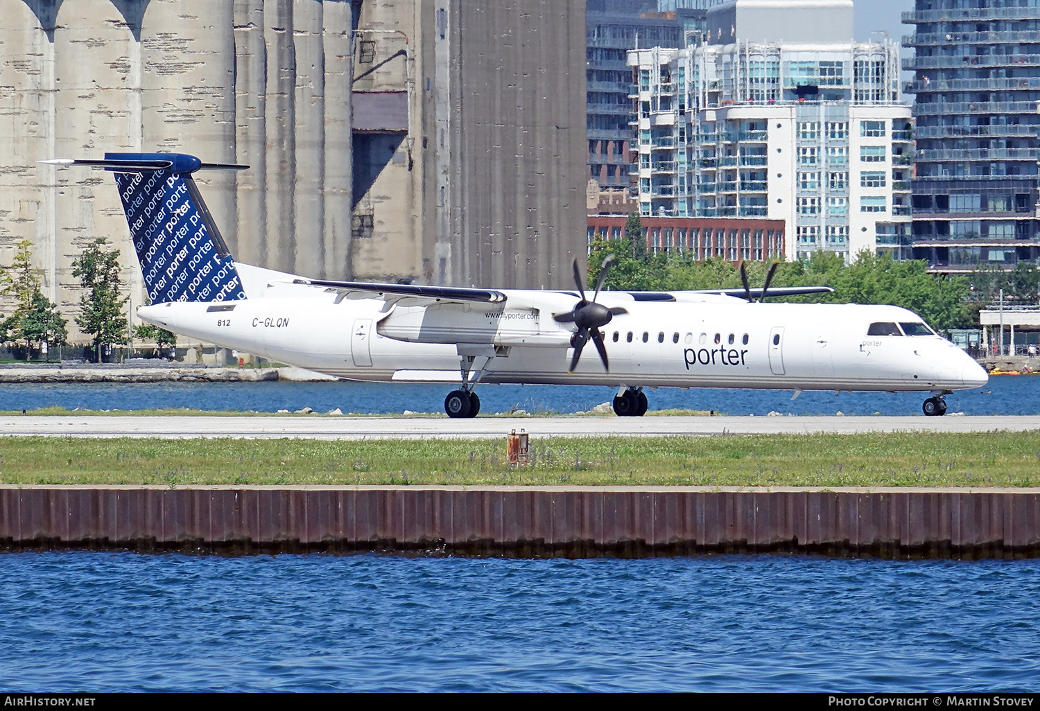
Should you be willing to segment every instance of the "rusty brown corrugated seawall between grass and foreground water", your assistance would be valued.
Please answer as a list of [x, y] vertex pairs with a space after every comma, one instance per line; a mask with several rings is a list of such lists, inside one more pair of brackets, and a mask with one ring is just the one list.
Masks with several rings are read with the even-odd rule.
[[0, 549], [1040, 556], [1040, 489], [0, 485]]

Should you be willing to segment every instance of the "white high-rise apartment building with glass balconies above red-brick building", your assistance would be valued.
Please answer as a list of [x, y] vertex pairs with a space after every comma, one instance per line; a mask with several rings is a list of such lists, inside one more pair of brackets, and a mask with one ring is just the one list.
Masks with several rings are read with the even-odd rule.
[[629, 53], [645, 215], [783, 219], [788, 259], [899, 252], [910, 108], [898, 48], [854, 42], [852, 0], [735, 0], [704, 40]]

